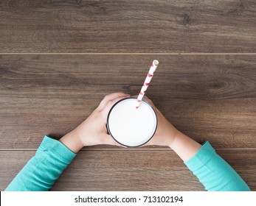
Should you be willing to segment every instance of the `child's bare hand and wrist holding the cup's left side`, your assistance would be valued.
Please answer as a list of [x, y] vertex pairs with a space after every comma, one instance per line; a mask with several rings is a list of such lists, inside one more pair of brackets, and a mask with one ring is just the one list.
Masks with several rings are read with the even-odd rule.
[[69, 132], [60, 142], [73, 152], [78, 152], [83, 146], [97, 144], [119, 145], [110, 135], [105, 127], [108, 112], [120, 99], [130, 96], [127, 93], [111, 93], [105, 96], [100, 105], [91, 113], [91, 116], [83, 121], [77, 128]]

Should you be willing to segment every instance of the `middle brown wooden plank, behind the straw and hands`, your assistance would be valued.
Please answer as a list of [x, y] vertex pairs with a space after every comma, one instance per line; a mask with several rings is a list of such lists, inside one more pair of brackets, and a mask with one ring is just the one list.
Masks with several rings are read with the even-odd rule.
[[154, 58], [147, 95], [175, 127], [215, 148], [256, 147], [255, 55], [1, 55], [0, 149], [36, 149], [105, 94], [136, 95]]

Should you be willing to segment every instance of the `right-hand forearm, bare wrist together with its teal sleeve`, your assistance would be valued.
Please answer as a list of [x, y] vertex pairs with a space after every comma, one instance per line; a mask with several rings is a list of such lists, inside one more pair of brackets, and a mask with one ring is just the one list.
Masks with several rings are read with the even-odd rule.
[[203, 146], [181, 132], [171, 144], [186, 166], [193, 171], [207, 191], [249, 191], [238, 173], [222, 159], [210, 143]]

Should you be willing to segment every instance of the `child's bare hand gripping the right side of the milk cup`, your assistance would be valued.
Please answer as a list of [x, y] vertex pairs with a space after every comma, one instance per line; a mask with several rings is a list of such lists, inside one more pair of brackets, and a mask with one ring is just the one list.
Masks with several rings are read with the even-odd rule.
[[145, 96], [144, 99], [151, 104], [153, 109], [156, 111], [156, 116], [158, 118], [156, 134], [146, 145], [171, 146], [179, 131], [173, 127], [169, 121], [167, 121], [165, 116], [163, 116], [162, 113], [156, 108], [151, 99], [148, 99], [147, 96]]

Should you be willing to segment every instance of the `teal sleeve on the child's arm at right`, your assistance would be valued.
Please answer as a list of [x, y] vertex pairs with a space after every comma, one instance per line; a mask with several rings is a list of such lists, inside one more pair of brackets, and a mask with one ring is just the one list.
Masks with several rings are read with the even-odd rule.
[[246, 182], [216, 154], [209, 142], [204, 143], [195, 156], [184, 163], [207, 191], [250, 191]]

